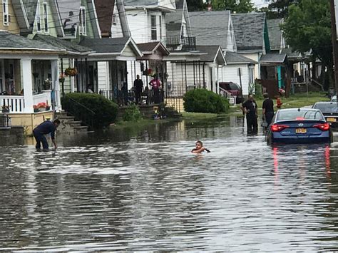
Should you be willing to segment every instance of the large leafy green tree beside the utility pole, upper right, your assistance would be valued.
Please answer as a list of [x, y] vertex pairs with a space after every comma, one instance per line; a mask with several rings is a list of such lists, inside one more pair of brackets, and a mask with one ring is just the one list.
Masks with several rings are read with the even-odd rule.
[[327, 67], [329, 83], [333, 80], [331, 14], [327, 0], [302, 0], [292, 4], [282, 25], [287, 44], [299, 53], [311, 52]]

